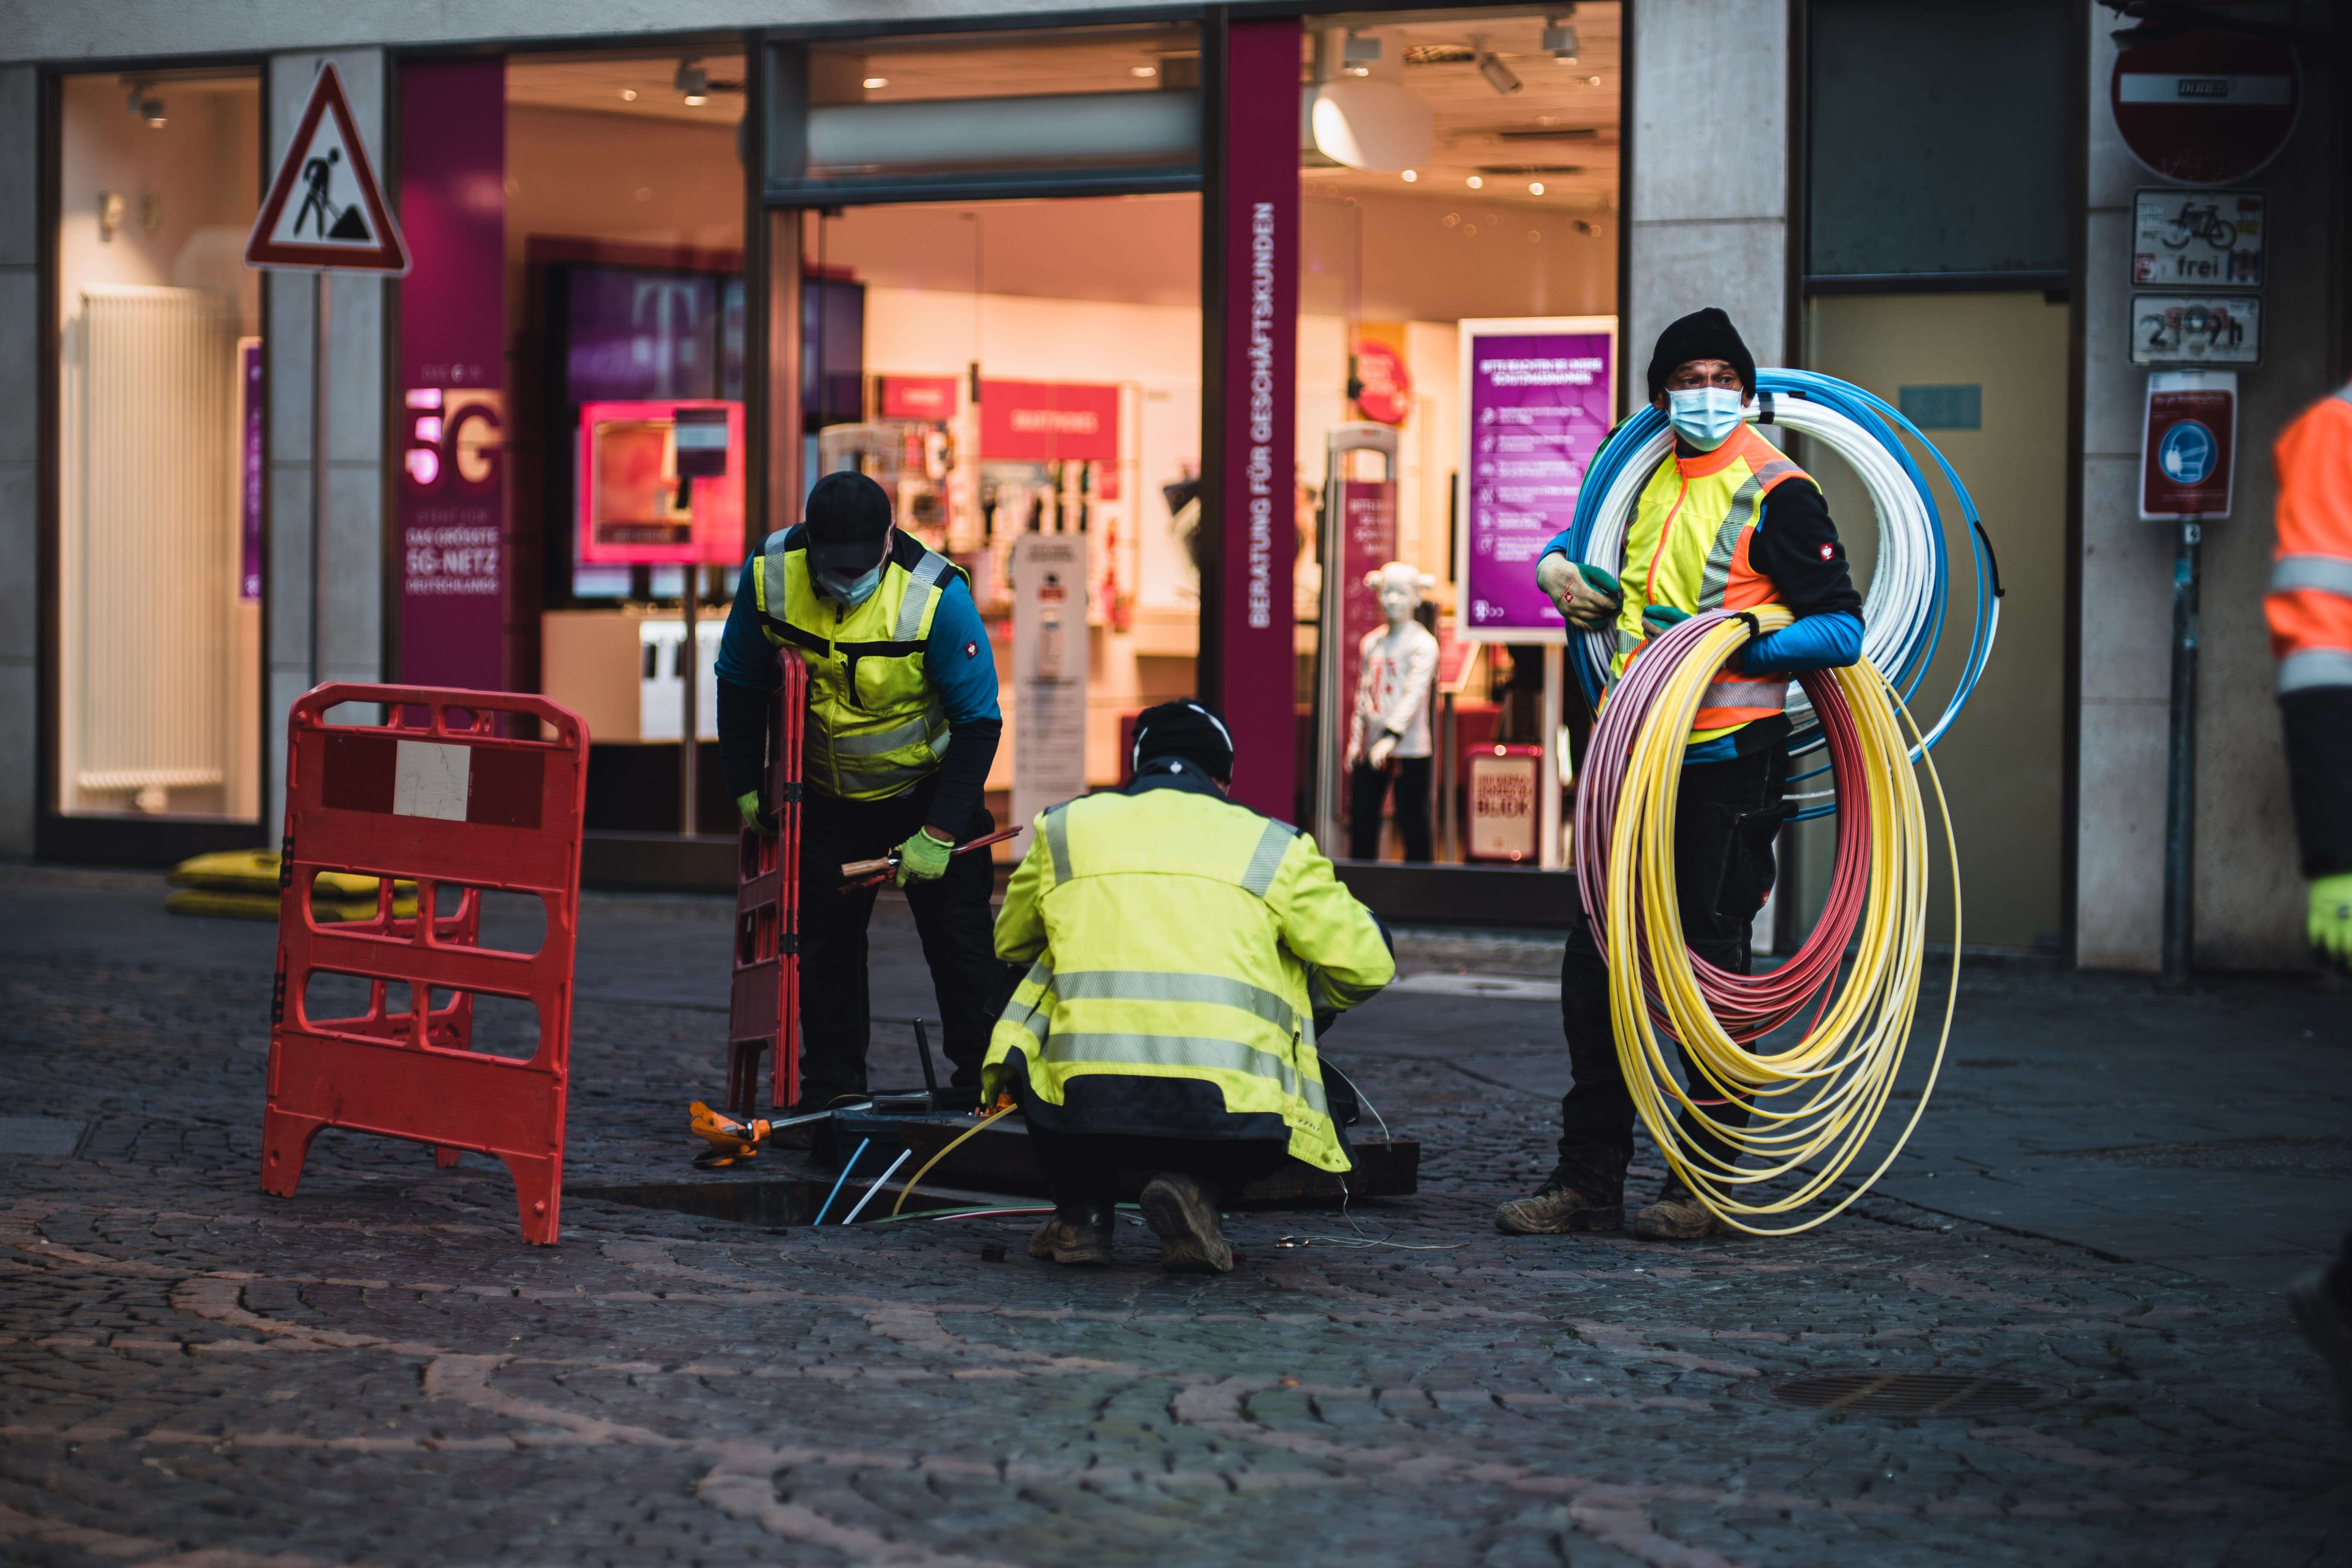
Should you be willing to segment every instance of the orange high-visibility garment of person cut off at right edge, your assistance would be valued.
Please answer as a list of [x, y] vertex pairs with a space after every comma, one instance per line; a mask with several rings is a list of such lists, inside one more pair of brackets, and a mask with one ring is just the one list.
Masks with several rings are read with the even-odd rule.
[[2286, 425], [2279, 548], [2270, 569], [2270, 651], [2279, 693], [2352, 686], [2352, 386]]

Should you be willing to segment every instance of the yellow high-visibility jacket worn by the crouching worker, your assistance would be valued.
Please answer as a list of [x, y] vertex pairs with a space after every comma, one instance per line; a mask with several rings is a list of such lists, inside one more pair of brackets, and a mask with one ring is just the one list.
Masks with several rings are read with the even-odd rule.
[[[1018, 1056], [1047, 1105], [1094, 1079], [1080, 1131], [1200, 1135], [1157, 1126], [1164, 1095], [1141, 1084], [1195, 1079], [1223, 1093], [1225, 1114], [1289, 1128], [1291, 1157], [1350, 1168], [1315, 1011], [1369, 1001], [1397, 964], [1296, 827], [1178, 788], [1042, 811], [997, 914], [997, 957], [1030, 971], [988, 1039], [990, 1100]], [[1138, 1088], [1131, 1117], [1122, 1084]]]

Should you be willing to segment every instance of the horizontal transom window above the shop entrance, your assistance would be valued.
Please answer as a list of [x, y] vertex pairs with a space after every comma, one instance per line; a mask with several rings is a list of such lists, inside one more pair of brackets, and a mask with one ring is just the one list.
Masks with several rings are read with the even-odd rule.
[[769, 59], [779, 200], [1200, 179], [1197, 28], [875, 38]]

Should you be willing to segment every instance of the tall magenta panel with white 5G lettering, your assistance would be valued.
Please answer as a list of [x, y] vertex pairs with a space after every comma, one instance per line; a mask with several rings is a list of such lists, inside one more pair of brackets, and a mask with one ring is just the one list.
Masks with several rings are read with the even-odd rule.
[[400, 73], [400, 679], [503, 691], [506, 63]]

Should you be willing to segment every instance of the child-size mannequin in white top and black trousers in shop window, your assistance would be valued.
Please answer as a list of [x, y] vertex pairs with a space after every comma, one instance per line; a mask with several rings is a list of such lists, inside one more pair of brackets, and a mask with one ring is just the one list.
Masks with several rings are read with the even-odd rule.
[[1381, 595], [1388, 625], [1364, 632], [1348, 717], [1348, 853], [1381, 858], [1381, 804], [1397, 783], [1397, 832], [1404, 858], [1430, 860], [1430, 686], [1437, 679], [1437, 637], [1414, 621], [1421, 595], [1437, 578], [1388, 562], [1364, 574]]

